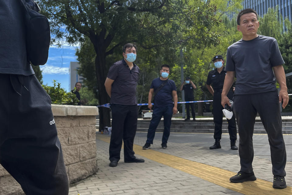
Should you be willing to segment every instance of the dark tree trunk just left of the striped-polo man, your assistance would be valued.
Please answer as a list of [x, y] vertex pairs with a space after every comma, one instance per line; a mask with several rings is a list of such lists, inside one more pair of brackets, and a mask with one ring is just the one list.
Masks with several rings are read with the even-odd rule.
[[[95, 68], [99, 92], [99, 105], [103, 105], [109, 103], [109, 96], [106, 93], [106, 88], [104, 87], [104, 82], [107, 75], [105, 52], [96, 52]], [[99, 131], [103, 130], [105, 126], [111, 126], [110, 108], [99, 107]]]

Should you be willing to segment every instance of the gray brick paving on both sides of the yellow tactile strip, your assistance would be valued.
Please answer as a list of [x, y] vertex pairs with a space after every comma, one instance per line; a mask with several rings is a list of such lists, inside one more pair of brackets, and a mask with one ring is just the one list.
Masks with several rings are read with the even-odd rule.
[[[137, 132], [134, 144], [141, 147], [145, 143], [147, 132]], [[162, 133], [155, 134], [153, 147], [156, 151], [175, 155], [187, 160], [216, 166], [225, 170], [238, 172], [240, 169], [238, 151], [230, 150], [229, 135], [222, 134], [221, 149], [209, 150], [214, 143], [212, 133], [171, 133], [168, 141], [168, 150], [162, 150]], [[291, 135], [284, 135], [286, 150], [292, 151]], [[266, 135], [254, 137], [253, 168], [257, 178], [273, 180], [269, 144]], [[237, 143], [238, 145], [238, 143]], [[109, 144], [96, 140], [97, 165], [96, 174], [74, 184], [71, 184], [70, 195], [242, 195], [241, 193], [215, 185], [196, 176], [168, 167], [147, 158], [145, 163], [124, 163], [123, 150], [117, 167], [109, 167]], [[292, 154], [292, 152], [291, 152]], [[138, 158], [143, 158], [135, 155]], [[287, 152], [286, 182], [292, 185], [292, 155]], [[232, 176], [232, 175], [231, 175]]]

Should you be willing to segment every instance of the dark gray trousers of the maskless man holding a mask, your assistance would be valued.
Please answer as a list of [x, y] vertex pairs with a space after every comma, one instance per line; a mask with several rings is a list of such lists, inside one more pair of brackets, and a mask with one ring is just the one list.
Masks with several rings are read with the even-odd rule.
[[235, 95], [233, 100], [233, 110], [238, 124], [240, 170], [247, 173], [253, 170], [252, 135], [258, 112], [268, 134], [273, 175], [286, 176], [286, 149], [277, 91]]

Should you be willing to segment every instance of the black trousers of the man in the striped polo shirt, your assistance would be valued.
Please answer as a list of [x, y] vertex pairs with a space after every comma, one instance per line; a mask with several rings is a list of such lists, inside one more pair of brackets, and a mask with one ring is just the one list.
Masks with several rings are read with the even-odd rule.
[[111, 104], [112, 134], [109, 143], [109, 160], [120, 160], [122, 143], [124, 142], [124, 161], [134, 158], [133, 144], [137, 130], [137, 105]]

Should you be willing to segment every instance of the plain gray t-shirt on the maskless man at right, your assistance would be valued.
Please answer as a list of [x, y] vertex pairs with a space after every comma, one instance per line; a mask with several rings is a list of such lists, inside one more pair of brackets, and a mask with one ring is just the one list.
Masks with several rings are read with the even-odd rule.
[[225, 70], [235, 71], [235, 95], [256, 94], [276, 90], [273, 66], [284, 63], [277, 40], [259, 35], [228, 47]]

